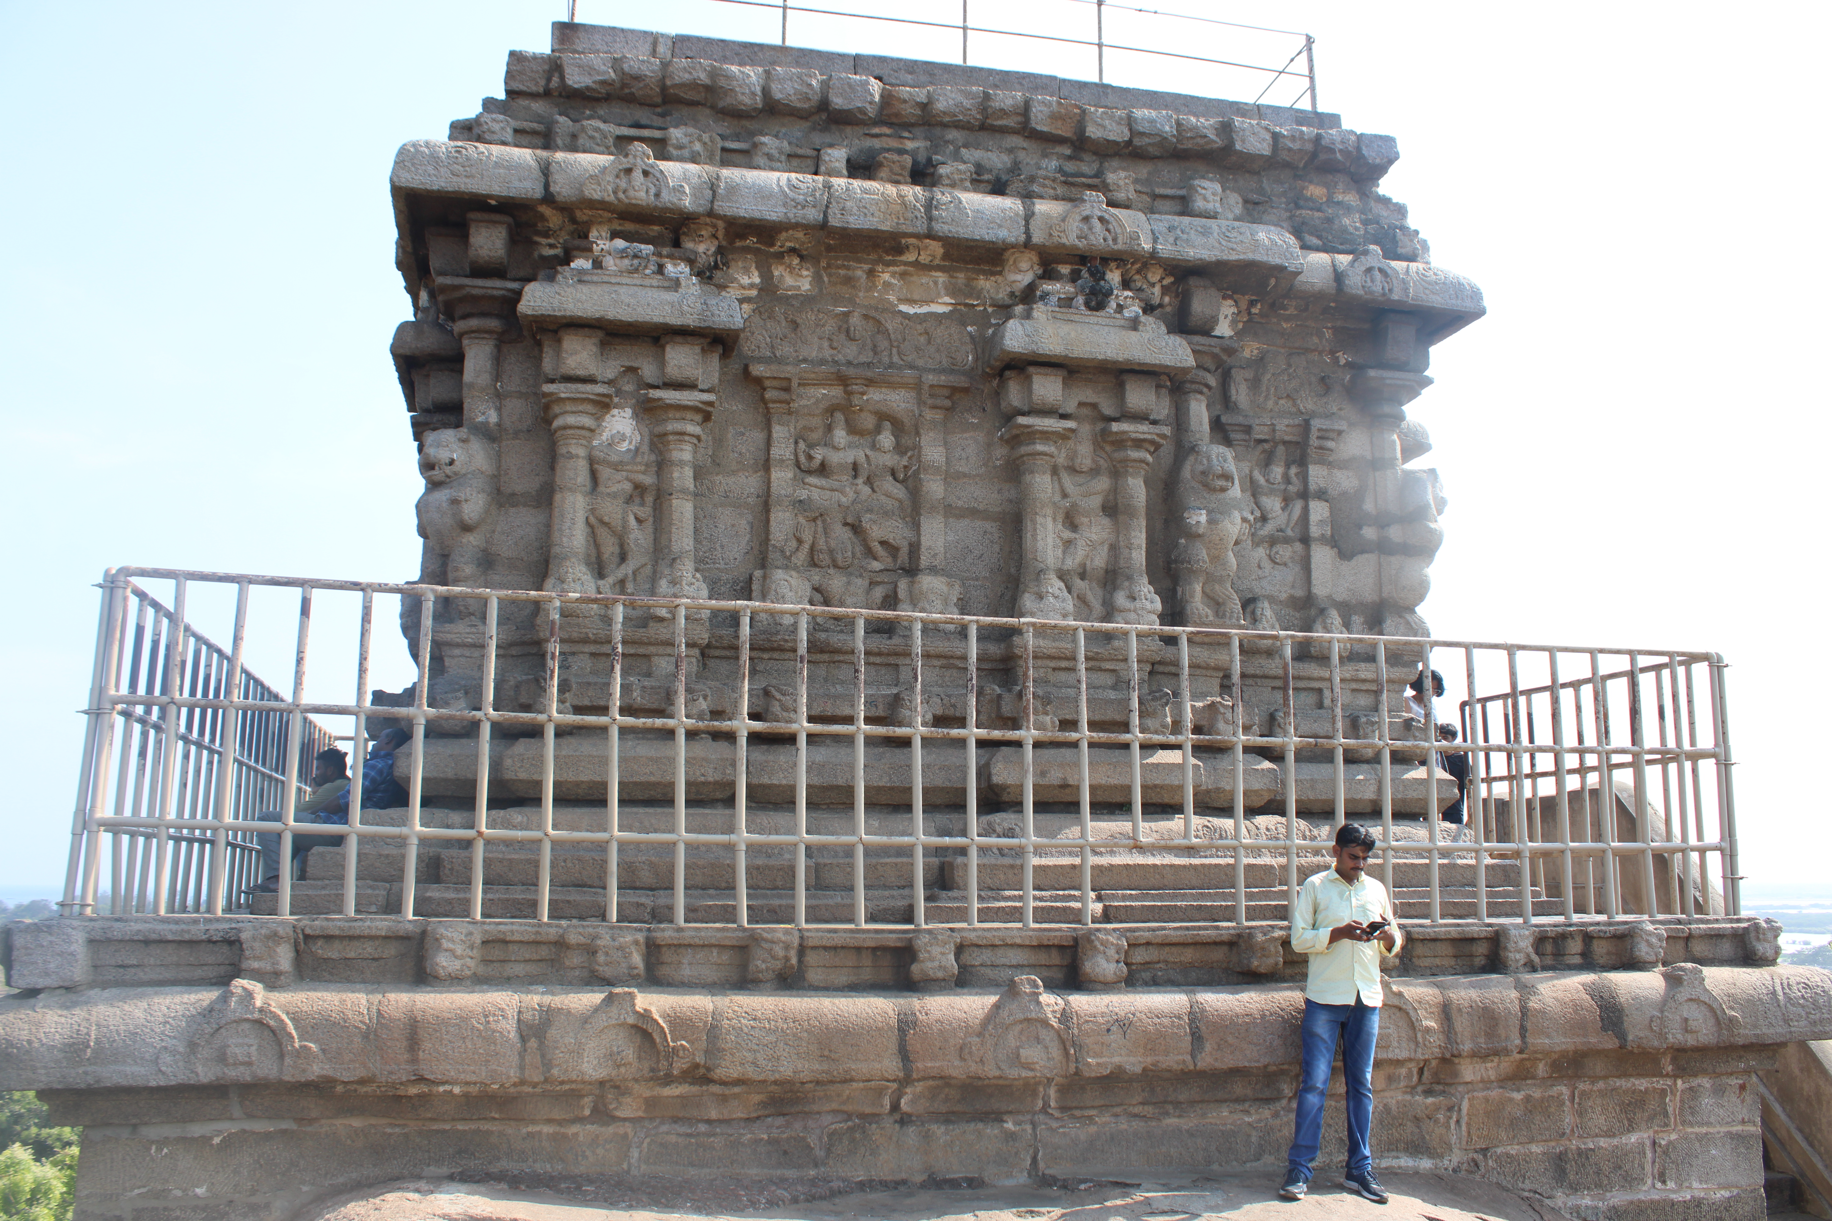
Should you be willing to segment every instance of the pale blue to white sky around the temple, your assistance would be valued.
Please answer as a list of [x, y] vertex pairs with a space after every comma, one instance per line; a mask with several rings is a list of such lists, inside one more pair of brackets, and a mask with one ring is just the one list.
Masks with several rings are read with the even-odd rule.
[[[1825, 9], [1182, 7], [1314, 33], [1323, 108], [1400, 139], [1383, 189], [1488, 293], [1412, 406], [1451, 498], [1434, 632], [1726, 654], [1746, 871], [1817, 882], [1825, 476], [1788, 463], [1827, 450]], [[958, 18], [953, 0], [890, 11]], [[1088, 20], [1053, 0], [973, 13]], [[60, 886], [104, 566], [416, 571], [388, 165], [500, 93], [504, 53], [544, 49], [557, 16], [564, 0], [0, 4], [0, 886]], [[777, 33], [711, 0], [581, 0], [579, 18]], [[958, 35], [817, 20], [791, 18], [791, 42], [958, 57]], [[1292, 46], [1149, 22], [1110, 37]], [[1092, 71], [1079, 51], [986, 46], [976, 62]], [[1110, 79], [1246, 88], [1121, 57]], [[256, 654], [275, 679], [277, 639]], [[407, 681], [405, 654], [377, 657], [377, 685]]]

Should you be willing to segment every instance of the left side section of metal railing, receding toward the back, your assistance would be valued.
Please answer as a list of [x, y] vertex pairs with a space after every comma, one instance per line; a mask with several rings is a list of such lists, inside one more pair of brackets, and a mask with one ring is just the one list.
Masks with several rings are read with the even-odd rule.
[[[112, 913], [220, 912], [224, 893], [260, 881], [245, 820], [291, 809], [306, 793], [300, 769], [310, 774], [332, 745], [247, 672], [244, 628], [245, 608], [225, 650], [185, 621], [183, 584], [176, 608], [130, 580], [103, 586], [77, 815], [126, 820], [108, 837]], [[90, 848], [93, 904], [101, 859]], [[71, 853], [66, 912], [77, 866]]]

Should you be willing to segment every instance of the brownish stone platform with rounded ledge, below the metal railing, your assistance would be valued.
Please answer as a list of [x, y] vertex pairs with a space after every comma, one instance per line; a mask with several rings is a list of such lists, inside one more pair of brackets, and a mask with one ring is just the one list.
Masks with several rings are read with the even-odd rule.
[[[20, 983], [73, 937], [60, 923], [18, 928]], [[1288, 1139], [1295, 983], [606, 989], [504, 978], [513, 956], [467, 935], [489, 932], [476, 926], [420, 923], [425, 974], [410, 932], [379, 921], [191, 928], [214, 937], [192, 943], [198, 959], [242, 946], [233, 979], [70, 981], [0, 1001], [0, 1078], [42, 1091], [53, 1122], [84, 1126], [79, 1217], [280, 1221], [449, 1173], [1273, 1177]], [[104, 945], [88, 943], [92, 974]], [[496, 967], [451, 972], [473, 945]], [[390, 968], [416, 981], [374, 979]], [[1471, 1175], [1574, 1217], [1759, 1217], [1755, 1075], [1828, 1034], [1832, 976], [1812, 968], [1396, 979], [1378, 1164]], [[1325, 1137], [1330, 1166], [1339, 1104]]]

